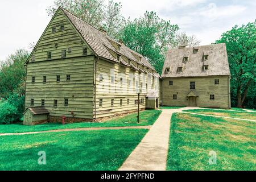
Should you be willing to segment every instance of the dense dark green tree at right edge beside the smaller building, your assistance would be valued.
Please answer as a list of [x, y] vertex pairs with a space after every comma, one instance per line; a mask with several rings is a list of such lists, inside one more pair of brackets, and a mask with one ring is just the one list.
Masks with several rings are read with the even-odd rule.
[[[256, 20], [235, 26], [225, 32], [216, 43], [226, 43], [230, 72], [232, 74], [232, 94], [237, 97], [237, 107], [245, 104], [248, 91], [256, 82]], [[254, 88], [251, 88], [251, 87]], [[251, 90], [250, 90], [251, 91]], [[254, 106], [256, 107], [256, 106]]]

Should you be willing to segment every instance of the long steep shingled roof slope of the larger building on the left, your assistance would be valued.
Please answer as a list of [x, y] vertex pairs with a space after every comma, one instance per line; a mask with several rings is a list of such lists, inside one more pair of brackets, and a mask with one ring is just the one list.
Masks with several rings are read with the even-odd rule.
[[[94, 53], [96, 53], [97, 56], [118, 62], [117, 59], [113, 57], [112, 54], [109, 52], [108, 49], [110, 49], [111, 51], [118, 53], [119, 55], [123, 55], [127, 57], [127, 59], [133, 60], [136, 63], [142, 64], [155, 71], [154, 67], [152, 67], [152, 65], [139, 53], [126, 47], [124, 44], [121, 44], [115, 41], [114, 39], [110, 38], [110, 36], [106, 35], [104, 32], [101, 32], [97, 28], [91, 26], [89, 23], [86, 23], [80, 18], [77, 18], [75, 15], [73, 15], [69, 11], [61, 7], [60, 9], [63, 11], [65, 15], [67, 15], [68, 19], [71, 21], [73, 26], [75, 26], [77, 31], [79, 31], [79, 33], [81, 34], [82, 38], [84, 38], [86, 43], [89, 44], [90, 48], [93, 49]], [[118, 44], [120, 46], [119, 51], [115, 49], [112, 43], [110, 42], [114, 42], [115, 44]], [[136, 59], [133, 53], [141, 57], [141, 62]]]

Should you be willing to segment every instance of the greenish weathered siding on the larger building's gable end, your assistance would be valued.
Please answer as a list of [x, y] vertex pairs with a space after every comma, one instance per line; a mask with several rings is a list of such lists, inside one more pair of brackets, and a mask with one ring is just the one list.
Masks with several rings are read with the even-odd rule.
[[[56, 32], [52, 32], [52, 27], [56, 27]], [[87, 55], [83, 55], [84, 47]], [[61, 58], [64, 49], [66, 57]], [[48, 51], [52, 52], [50, 60]], [[34, 98], [34, 106], [41, 106], [41, 100], [45, 100], [51, 116], [73, 117], [73, 111], [75, 118], [92, 119], [94, 56], [61, 10], [49, 23], [32, 54], [35, 61], [32, 63], [31, 56], [27, 64], [26, 108]], [[60, 82], [56, 80], [57, 75], [60, 75]], [[70, 81], [66, 80], [67, 75], [71, 75]], [[47, 77], [46, 83], [43, 83], [43, 76]], [[35, 77], [34, 84], [32, 77]], [[64, 98], [68, 98], [68, 106], [64, 106]], [[53, 106], [53, 100], [57, 100], [57, 107]]]

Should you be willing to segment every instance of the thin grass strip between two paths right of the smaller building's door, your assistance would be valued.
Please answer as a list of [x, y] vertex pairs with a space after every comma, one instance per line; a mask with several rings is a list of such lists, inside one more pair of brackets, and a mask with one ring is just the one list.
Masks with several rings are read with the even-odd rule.
[[191, 109], [191, 110], [184, 110], [184, 112], [256, 120], [256, 113], [247, 112], [247, 111], [238, 112], [238, 111], [232, 111], [232, 110], [217, 110], [217, 109]]

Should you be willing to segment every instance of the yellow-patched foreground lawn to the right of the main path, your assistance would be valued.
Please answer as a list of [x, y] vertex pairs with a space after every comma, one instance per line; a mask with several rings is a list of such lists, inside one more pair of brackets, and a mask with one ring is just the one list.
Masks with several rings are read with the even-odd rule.
[[[255, 170], [256, 123], [175, 113], [172, 115], [168, 170]], [[209, 152], [217, 164], [209, 164]]]

